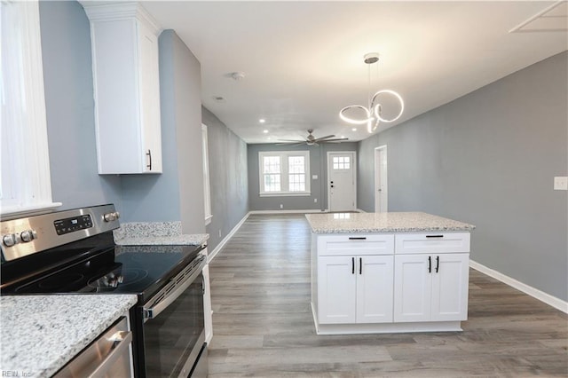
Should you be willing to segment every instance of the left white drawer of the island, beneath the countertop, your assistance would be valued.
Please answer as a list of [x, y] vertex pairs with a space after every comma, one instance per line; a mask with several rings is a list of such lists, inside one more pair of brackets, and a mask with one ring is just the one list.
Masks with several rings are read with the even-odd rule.
[[318, 238], [318, 256], [392, 255], [394, 235], [345, 234]]

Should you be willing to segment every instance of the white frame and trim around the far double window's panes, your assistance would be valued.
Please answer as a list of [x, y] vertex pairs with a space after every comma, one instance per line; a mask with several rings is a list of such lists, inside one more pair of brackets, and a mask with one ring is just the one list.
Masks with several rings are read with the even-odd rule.
[[[280, 190], [280, 192], [264, 192], [264, 156], [280, 156], [280, 189], [288, 186], [288, 157], [304, 156], [305, 166], [305, 190], [303, 192], [290, 192], [289, 190]], [[282, 162], [283, 161], [283, 162]], [[258, 195], [260, 197], [309, 197], [312, 195], [311, 179], [310, 179], [310, 151], [259, 151], [258, 152]], [[285, 186], [284, 186], [285, 185]]]

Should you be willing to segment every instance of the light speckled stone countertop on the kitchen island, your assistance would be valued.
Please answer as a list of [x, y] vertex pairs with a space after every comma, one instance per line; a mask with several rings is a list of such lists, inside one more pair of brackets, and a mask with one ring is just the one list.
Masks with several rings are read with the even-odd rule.
[[475, 225], [422, 212], [306, 214], [314, 233], [472, 231]]

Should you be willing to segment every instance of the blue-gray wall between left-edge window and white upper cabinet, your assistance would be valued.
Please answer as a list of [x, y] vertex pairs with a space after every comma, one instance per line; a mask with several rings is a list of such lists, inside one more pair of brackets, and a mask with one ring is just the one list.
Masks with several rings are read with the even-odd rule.
[[120, 177], [97, 170], [89, 20], [76, 2], [40, 2], [39, 12], [53, 201], [122, 210]]

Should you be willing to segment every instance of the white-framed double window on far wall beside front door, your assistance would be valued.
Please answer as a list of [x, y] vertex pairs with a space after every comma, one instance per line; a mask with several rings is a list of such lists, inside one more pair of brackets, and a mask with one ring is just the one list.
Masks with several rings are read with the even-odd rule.
[[260, 195], [310, 195], [310, 152], [258, 153]]

